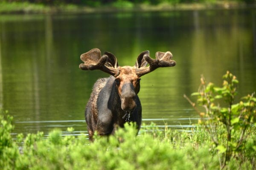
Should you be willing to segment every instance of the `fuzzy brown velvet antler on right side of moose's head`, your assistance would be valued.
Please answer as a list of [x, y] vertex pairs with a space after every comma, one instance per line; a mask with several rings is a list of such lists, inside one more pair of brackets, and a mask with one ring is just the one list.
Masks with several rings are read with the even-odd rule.
[[159, 67], [172, 67], [176, 65], [176, 62], [172, 60], [172, 53], [170, 51], [167, 51], [165, 53], [159, 51], [156, 52], [156, 59], [152, 59], [151, 57], [149, 57], [148, 51], [144, 51], [141, 54], [144, 54], [143, 59], [148, 62], [149, 66], [145, 67], [146, 64], [144, 64], [143, 67], [137, 67], [136, 74], [140, 77], [150, 73], [151, 71], [154, 71]]

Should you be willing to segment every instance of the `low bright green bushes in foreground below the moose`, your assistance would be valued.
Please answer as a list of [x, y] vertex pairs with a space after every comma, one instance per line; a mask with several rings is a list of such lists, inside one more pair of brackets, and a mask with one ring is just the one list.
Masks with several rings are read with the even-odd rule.
[[[1, 119], [3, 116], [1, 117]], [[11, 118], [11, 117], [9, 117]], [[6, 120], [3, 120], [6, 121]], [[7, 121], [8, 122], [8, 121]], [[10, 122], [8, 126], [12, 126]], [[145, 125], [144, 125], [145, 126]], [[3, 127], [1, 123], [1, 129]], [[72, 129], [69, 129], [72, 131]], [[154, 124], [146, 126], [136, 136], [135, 125], [125, 125], [114, 136], [95, 136], [93, 143], [88, 143], [85, 135], [61, 136], [61, 131], [53, 130], [49, 136], [43, 133], [29, 134], [23, 138], [10, 139], [10, 133], [3, 130], [1, 138], [2, 152], [0, 167], [9, 169], [217, 169], [218, 156], [209, 152], [209, 136], [204, 129], [192, 132], [160, 130]], [[255, 139], [252, 139], [252, 141]], [[208, 142], [207, 142], [208, 141]], [[20, 146], [20, 147], [18, 147]], [[21, 148], [20, 151], [18, 148]], [[253, 156], [251, 156], [253, 157]], [[244, 167], [250, 162], [244, 161]], [[238, 166], [233, 161], [230, 167]]]

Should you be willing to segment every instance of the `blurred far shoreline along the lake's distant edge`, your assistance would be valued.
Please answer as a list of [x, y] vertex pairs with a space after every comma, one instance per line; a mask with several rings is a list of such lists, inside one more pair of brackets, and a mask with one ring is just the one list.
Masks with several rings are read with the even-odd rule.
[[161, 3], [158, 5], [132, 4], [132, 6], [78, 6], [74, 4], [61, 4], [58, 6], [47, 6], [33, 3], [0, 3], [0, 14], [86, 14], [105, 12], [146, 12], [146, 11], [186, 11], [207, 9], [239, 9], [256, 8], [256, 4], [246, 4], [237, 1], [216, 1], [214, 3], [178, 3], [175, 5]]

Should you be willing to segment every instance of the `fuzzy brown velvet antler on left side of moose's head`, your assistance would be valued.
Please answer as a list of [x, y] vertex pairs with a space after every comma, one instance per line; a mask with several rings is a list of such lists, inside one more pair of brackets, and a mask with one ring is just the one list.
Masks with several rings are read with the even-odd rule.
[[81, 54], [81, 60], [84, 64], [80, 64], [81, 70], [101, 70], [114, 77], [119, 75], [118, 63], [116, 57], [110, 52], [105, 52], [101, 57], [101, 52], [98, 48], [93, 48], [90, 51]]

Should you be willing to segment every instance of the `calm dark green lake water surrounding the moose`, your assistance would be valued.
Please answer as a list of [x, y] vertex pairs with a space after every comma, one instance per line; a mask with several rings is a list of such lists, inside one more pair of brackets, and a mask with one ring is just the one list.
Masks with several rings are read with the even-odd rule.
[[200, 75], [217, 85], [230, 70], [239, 96], [256, 90], [256, 10], [0, 15], [0, 103], [15, 133], [87, 133], [84, 108], [101, 71], [81, 71], [80, 54], [100, 48], [119, 65], [140, 52], [171, 51], [177, 65], [142, 77], [143, 122], [190, 127], [197, 114], [183, 98]]

